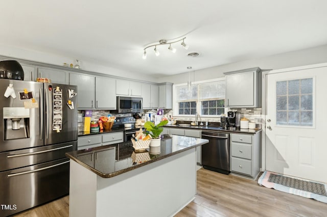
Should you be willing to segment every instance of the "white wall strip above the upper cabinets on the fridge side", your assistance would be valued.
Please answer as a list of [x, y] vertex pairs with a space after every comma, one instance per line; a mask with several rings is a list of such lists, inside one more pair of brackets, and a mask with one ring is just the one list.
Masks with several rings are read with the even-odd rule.
[[[75, 62], [76, 59], [73, 57], [68, 57], [68, 56], [65, 57], [65, 56], [61, 56], [61, 55], [56, 55], [55, 53], [47, 53], [47, 52], [41, 52], [41, 51], [36, 51], [36, 50], [27, 50], [27, 49], [7, 46], [7, 45], [3, 45], [3, 44], [0, 44], [0, 55], [6, 56], [6, 57], [36, 61], [36, 62], [41, 62], [41, 63], [46, 63], [46, 64], [53, 64], [53, 65], [58, 65], [58, 66], [62, 66], [63, 63], [67, 63], [68, 65], [71, 63], [73, 63], [75, 65], [75, 63], [76, 63]], [[98, 73], [102, 73], [102, 74], [126, 77], [126, 78], [137, 79], [137, 80], [140, 80], [143, 77], [146, 77], [147, 78], [145, 80], [146, 82], [156, 82], [157, 83], [157, 81], [158, 81], [158, 78], [155, 78], [155, 77], [152, 77], [149, 75], [135, 73], [135, 72], [129, 72], [129, 71], [124, 71], [124, 70], [120, 70], [120, 69], [103, 66], [103, 65], [101, 65], [100, 62], [97, 62], [96, 60], [94, 62], [86, 62], [86, 61], [80, 60], [79, 65], [80, 65], [81, 69], [86, 70], [86, 71], [98, 72]]]

